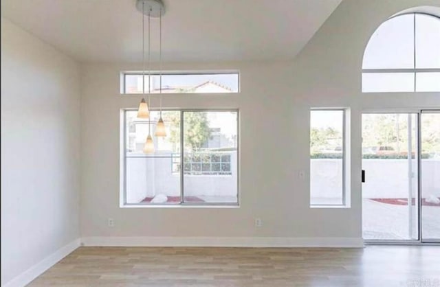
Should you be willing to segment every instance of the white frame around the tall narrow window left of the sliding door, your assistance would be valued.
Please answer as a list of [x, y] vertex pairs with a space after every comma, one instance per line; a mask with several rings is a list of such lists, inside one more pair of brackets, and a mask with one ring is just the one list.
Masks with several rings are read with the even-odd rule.
[[[348, 108], [310, 108], [309, 115], [312, 111], [342, 111], [342, 203], [341, 204], [312, 204], [311, 203], [311, 172], [309, 176], [309, 207], [310, 208], [348, 208], [350, 207], [349, 196], [347, 196], [347, 180], [350, 179], [347, 176], [347, 160], [349, 157], [347, 156], [349, 139], [347, 138], [347, 115]], [[311, 154], [310, 154], [310, 131], [311, 131], [311, 122], [309, 122], [309, 171], [311, 166]]]

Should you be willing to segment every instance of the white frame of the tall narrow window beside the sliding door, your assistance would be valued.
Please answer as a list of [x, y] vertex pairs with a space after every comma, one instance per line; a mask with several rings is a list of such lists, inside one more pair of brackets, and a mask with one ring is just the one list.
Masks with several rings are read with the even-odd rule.
[[[310, 208], [350, 208], [350, 110], [349, 108], [310, 108], [309, 115], [312, 111], [342, 111], [342, 203], [341, 204], [312, 204], [311, 203], [311, 172], [309, 168], [309, 207]], [[311, 164], [310, 156], [310, 131], [309, 124], [309, 164]]]

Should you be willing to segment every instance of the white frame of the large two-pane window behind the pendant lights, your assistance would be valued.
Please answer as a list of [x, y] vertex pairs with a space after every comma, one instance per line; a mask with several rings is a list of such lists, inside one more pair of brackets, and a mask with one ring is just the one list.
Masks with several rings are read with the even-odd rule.
[[[126, 202], [126, 138], [127, 138], [127, 127], [126, 127], [126, 113], [129, 111], [137, 111], [137, 108], [122, 108], [120, 110], [120, 207], [240, 207], [240, 111], [239, 108], [162, 108], [162, 111], [179, 111], [180, 113], [180, 162], [181, 168], [177, 174], [173, 174], [173, 169], [171, 172], [175, 176], [179, 176], [180, 184], [180, 203], [127, 203]], [[157, 108], [151, 108], [150, 111], [160, 111]], [[236, 113], [236, 202], [235, 203], [188, 203], [184, 202], [184, 113], [186, 112], [234, 112]], [[149, 119], [148, 119], [149, 120]], [[164, 158], [160, 156], [140, 156], [150, 157], [150, 158]], [[165, 157], [171, 159], [171, 164], [173, 164], [173, 157]], [[230, 162], [232, 163], [232, 161]], [[200, 175], [190, 175], [190, 176], [204, 176]], [[218, 175], [218, 176], [231, 176], [231, 175]]]

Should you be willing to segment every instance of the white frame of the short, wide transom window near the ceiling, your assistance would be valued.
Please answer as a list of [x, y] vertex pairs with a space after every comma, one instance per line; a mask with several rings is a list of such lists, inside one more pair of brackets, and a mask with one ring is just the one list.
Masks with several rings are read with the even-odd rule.
[[[120, 93], [122, 95], [142, 95], [142, 93], [126, 93], [126, 76], [142, 76], [144, 73], [142, 71], [121, 71], [120, 72]], [[150, 76], [184, 76], [184, 75], [236, 75], [237, 76], [237, 91], [232, 91], [228, 93], [236, 94], [240, 93], [241, 90], [241, 73], [239, 70], [180, 70], [180, 71], [150, 71], [149, 73], [145, 72], [144, 76], [145, 78], [148, 78], [148, 74]], [[148, 89], [148, 87], [146, 87]], [[162, 88], [163, 89], [163, 88]], [[148, 93], [148, 91], [145, 91], [146, 95], [157, 95], [158, 93]], [[166, 94], [166, 93], [162, 93]], [[182, 93], [170, 93], [173, 94], [182, 94]], [[183, 93], [188, 94], [188, 93]], [[191, 93], [189, 93], [191, 94]], [[199, 93], [196, 93], [199, 94]], [[221, 93], [214, 93], [214, 94], [221, 94]]]

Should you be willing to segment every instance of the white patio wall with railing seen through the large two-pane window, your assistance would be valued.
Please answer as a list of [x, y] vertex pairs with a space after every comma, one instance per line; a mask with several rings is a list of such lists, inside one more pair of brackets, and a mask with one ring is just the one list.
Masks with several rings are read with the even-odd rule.
[[[180, 195], [179, 157], [171, 152], [158, 155], [127, 157], [127, 203], [139, 203], [157, 194]], [[200, 152], [186, 157], [184, 163], [185, 196], [236, 196], [236, 151]]]

